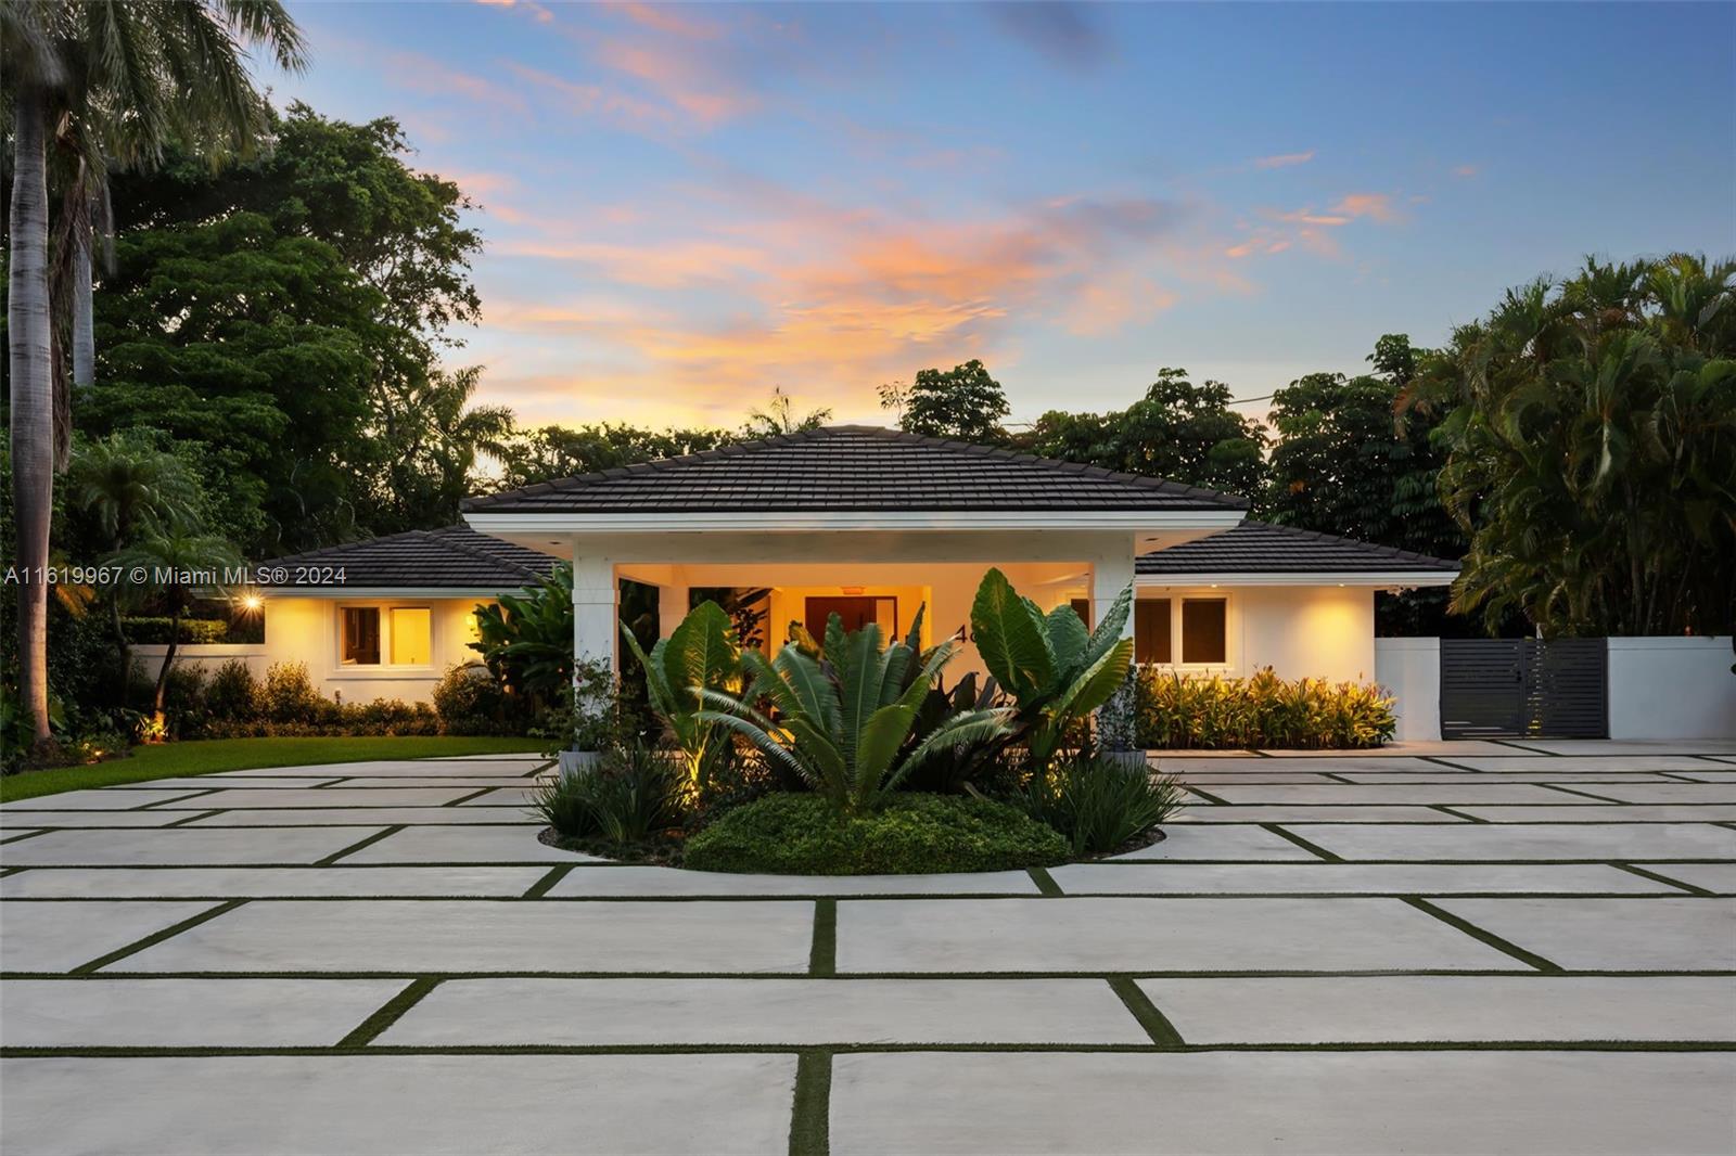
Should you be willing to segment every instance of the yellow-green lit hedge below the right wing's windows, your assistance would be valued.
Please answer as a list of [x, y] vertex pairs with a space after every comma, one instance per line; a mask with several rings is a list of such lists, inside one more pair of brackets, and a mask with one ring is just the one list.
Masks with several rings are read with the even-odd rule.
[[1147, 748], [1349, 750], [1392, 738], [1392, 701], [1373, 684], [1286, 680], [1271, 667], [1248, 679], [1141, 667], [1134, 710], [1139, 745]]

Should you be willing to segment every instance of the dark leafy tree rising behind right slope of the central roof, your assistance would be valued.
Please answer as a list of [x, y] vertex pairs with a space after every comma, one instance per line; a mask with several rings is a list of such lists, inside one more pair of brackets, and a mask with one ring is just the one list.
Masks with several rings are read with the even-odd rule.
[[1266, 474], [1266, 432], [1231, 406], [1229, 385], [1194, 385], [1165, 368], [1146, 396], [1120, 413], [1049, 411], [1021, 432], [1023, 450], [1127, 474], [1253, 495]]

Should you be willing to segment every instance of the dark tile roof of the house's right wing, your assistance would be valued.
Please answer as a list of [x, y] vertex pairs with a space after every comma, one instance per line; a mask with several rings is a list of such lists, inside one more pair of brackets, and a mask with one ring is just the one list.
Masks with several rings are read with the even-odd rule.
[[1243, 521], [1207, 538], [1142, 554], [1141, 575], [1455, 573], [1458, 562], [1293, 526]]

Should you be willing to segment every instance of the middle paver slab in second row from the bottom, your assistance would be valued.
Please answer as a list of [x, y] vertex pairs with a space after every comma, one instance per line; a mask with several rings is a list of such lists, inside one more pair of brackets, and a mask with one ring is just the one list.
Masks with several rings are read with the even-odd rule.
[[382, 1045], [1151, 1043], [1101, 979], [451, 979]]

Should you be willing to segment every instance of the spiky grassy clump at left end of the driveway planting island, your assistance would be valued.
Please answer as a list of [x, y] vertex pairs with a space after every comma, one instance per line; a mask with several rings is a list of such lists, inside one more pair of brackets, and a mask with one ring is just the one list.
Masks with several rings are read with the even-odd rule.
[[684, 786], [674, 757], [635, 743], [604, 752], [592, 771], [542, 786], [533, 805], [568, 838], [634, 845], [681, 824]]

